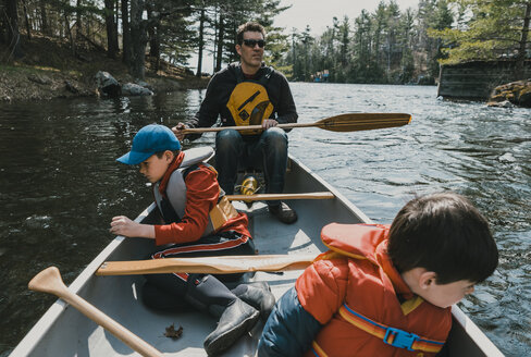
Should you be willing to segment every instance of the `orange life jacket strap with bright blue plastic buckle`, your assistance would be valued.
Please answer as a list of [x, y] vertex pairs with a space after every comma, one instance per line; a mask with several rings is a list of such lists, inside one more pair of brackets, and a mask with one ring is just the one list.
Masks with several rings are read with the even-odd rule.
[[429, 340], [415, 333], [387, 327], [354, 311], [346, 304], [339, 308], [339, 315], [349, 323], [365, 332], [381, 338], [387, 345], [408, 350], [437, 353], [443, 348], [444, 341]]

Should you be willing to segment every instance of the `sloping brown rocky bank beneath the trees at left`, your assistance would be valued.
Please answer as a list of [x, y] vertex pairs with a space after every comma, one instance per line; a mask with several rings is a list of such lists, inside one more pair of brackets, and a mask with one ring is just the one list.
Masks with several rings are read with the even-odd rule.
[[[0, 53], [8, 49], [0, 44]], [[24, 56], [10, 64], [0, 65], [0, 103], [55, 98], [98, 97], [95, 75], [109, 72], [121, 85], [136, 83], [120, 58], [110, 59], [98, 49], [81, 49], [73, 54], [70, 45], [55, 37], [33, 34]], [[195, 76], [183, 66], [146, 57], [144, 83], [153, 93], [207, 87], [210, 76]]]

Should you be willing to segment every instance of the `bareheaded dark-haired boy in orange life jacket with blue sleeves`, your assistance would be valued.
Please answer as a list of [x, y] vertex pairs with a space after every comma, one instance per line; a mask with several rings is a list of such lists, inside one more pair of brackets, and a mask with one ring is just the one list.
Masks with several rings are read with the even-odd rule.
[[331, 249], [275, 305], [258, 346], [274, 356], [434, 356], [450, 306], [496, 269], [486, 220], [462, 196], [409, 201], [391, 226], [329, 224]]

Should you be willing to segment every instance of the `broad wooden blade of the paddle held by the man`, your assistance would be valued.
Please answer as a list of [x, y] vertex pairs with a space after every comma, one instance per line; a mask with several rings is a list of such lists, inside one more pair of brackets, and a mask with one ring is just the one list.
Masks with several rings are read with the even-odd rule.
[[317, 126], [331, 132], [357, 132], [407, 125], [411, 115], [405, 113], [347, 113], [317, 122]]

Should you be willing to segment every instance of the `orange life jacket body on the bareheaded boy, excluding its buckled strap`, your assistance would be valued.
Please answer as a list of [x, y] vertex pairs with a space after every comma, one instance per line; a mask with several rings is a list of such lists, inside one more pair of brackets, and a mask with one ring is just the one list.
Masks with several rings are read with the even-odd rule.
[[387, 236], [386, 225], [333, 223], [322, 230], [323, 243], [331, 250], [306, 269], [295, 285], [304, 309], [324, 325], [306, 356], [435, 355], [385, 344], [353, 324], [348, 311], [442, 347], [452, 325], [450, 309], [412, 294], [386, 254]]

